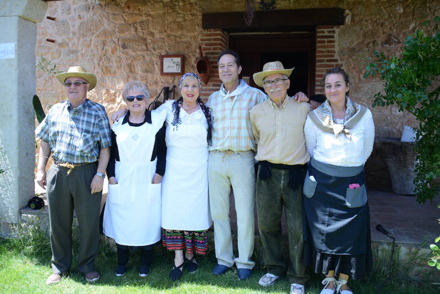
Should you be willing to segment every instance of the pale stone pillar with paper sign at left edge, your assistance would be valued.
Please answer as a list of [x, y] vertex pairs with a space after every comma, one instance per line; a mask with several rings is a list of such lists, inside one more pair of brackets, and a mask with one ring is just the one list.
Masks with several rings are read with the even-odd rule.
[[[36, 23], [42, 0], [0, 0], [0, 234], [18, 223], [19, 211], [34, 195]], [[5, 44], [13, 54], [5, 55]], [[13, 58], [11, 58], [13, 57]]]

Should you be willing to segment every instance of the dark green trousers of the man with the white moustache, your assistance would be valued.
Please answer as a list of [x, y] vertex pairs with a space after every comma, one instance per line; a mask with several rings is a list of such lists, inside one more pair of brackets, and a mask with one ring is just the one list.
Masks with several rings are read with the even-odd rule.
[[[258, 174], [260, 174], [260, 168], [261, 166], [258, 167]], [[303, 181], [296, 189], [293, 189], [288, 185], [289, 170], [271, 168], [271, 172], [272, 177], [266, 180], [262, 181], [257, 177], [256, 186], [258, 229], [263, 244], [264, 265], [267, 272], [278, 276], [283, 275], [287, 268], [287, 278], [290, 283], [305, 285], [309, 276], [302, 263]], [[306, 171], [300, 170], [300, 172], [304, 179]], [[289, 258], [283, 256], [281, 248], [283, 206], [287, 223]]]

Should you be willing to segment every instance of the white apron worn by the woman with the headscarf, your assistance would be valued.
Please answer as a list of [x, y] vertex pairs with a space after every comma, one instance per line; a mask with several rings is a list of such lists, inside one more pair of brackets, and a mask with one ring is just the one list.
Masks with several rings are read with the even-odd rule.
[[[182, 110], [180, 110], [182, 112]], [[162, 227], [174, 230], [206, 230], [211, 227], [208, 198], [207, 131], [203, 113], [192, 113], [199, 124], [184, 124], [180, 113], [177, 129], [167, 125], [167, 168], [162, 179]], [[183, 114], [183, 115], [182, 115]]]

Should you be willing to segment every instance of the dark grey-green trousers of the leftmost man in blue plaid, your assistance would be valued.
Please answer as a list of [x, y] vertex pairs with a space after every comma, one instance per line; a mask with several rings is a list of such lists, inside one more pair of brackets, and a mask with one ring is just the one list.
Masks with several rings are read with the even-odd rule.
[[52, 164], [47, 171], [47, 201], [49, 204], [50, 247], [52, 271], [62, 274], [72, 264], [72, 221], [75, 209], [79, 225], [78, 271], [86, 274], [95, 270], [99, 247], [99, 209], [102, 192], [90, 194], [90, 183], [98, 163], [75, 168]]

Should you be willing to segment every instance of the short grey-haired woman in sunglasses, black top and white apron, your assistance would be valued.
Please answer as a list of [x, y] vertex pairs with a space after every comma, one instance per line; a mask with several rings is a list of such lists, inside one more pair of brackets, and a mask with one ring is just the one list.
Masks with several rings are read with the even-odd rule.
[[140, 251], [139, 276], [145, 277], [150, 271], [153, 246], [161, 239], [166, 113], [146, 109], [150, 93], [141, 82], [125, 84], [122, 96], [128, 113], [112, 126], [103, 227], [116, 242], [116, 276], [126, 273], [132, 249]]

